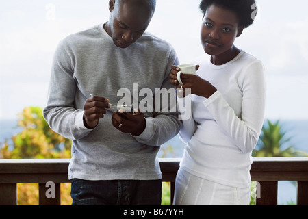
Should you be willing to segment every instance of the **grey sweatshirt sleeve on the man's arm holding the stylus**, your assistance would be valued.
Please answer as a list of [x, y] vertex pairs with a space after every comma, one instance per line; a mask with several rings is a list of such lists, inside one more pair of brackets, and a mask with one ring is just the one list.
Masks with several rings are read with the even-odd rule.
[[83, 138], [92, 130], [84, 127], [84, 110], [75, 108], [74, 62], [69, 49], [60, 42], [53, 57], [47, 106], [43, 110], [49, 127], [72, 140]]

